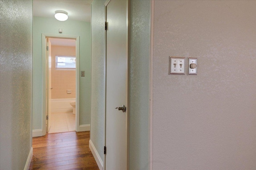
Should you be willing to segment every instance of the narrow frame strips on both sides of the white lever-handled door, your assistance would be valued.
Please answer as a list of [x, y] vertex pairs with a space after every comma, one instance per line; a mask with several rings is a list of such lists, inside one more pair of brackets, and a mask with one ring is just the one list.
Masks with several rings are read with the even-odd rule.
[[[106, 0], [104, 5], [105, 5], [105, 22], [107, 21], [107, 6], [112, 0]], [[130, 135], [129, 135], [129, 129], [130, 129], [130, 0], [126, 0], [126, 135], [127, 135], [127, 170], [129, 169], [129, 141], [130, 141]], [[107, 23], [106, 23], [107, 25]], [[107, 25], [108, 26], [108, 25]], [[106, 71], [107, 71], [107, 63], [106, 63], [106, 58], [107, 58], [107, 30], [105, 30], [105, 60], [104, 60], [104, 65], [105, 65], [105, 146], [106, 146]], [[103, 169], [106, 169], [106, 154], [104, 154], [104, 164], [103, 164]]]

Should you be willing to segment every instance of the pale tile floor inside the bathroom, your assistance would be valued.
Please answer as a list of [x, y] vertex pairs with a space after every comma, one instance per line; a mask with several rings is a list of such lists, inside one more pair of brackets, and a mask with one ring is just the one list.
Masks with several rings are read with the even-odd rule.
[[48, 133], [62, 133], [76, 131], [76, 120], [72, 112], [52, 113], [50, 130]]

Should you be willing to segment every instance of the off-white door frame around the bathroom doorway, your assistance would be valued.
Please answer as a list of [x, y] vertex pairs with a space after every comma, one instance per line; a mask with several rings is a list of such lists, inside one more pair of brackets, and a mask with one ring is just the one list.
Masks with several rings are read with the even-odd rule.
[[77, 35], [59, 35], [42, 33], [42, 136], [46, 135], [46, 38], [64, 38], [76, 40], [76, 131], [79, 131], [79, 86], [80, 86], [80, 72], [79, 72], [79, 36]]

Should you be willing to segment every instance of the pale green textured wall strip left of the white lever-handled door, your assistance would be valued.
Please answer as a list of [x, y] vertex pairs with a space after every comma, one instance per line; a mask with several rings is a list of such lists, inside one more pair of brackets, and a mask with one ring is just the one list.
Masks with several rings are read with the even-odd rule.
[[90, 140], [104, 161], [105, 145], [105, 0], [92, 2], [92, 97]]

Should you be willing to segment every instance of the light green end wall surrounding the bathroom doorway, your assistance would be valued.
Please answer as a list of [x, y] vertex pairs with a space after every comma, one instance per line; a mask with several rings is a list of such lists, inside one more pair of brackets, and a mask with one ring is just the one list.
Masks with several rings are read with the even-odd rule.
[[[62, 28], [63, 32], [58, 33]], [[80, 122], [90, 124], [91, 35], [90, 23], [58, 21], [55, 18], [33, 18], [33, 109], [32, 129], [42, 129], [42, 33], [80, 36]], [[78, 70], [80, 72], [80, 70]]]

